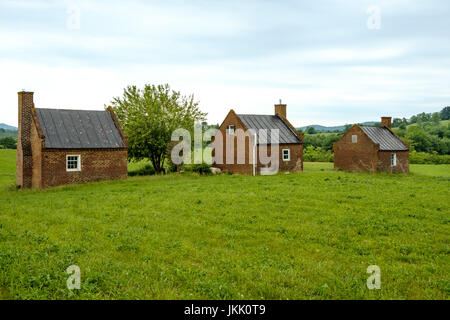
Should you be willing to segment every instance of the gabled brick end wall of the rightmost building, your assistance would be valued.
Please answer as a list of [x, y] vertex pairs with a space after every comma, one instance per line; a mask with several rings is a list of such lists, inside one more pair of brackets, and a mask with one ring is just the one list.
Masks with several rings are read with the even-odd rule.
[[[352, 142], [352, 135], [358, 138]], [[333, 145], [334, 168], [345, 171], [376, 172], [378, 165], [378, 145], [373, 143], [358, 126], [353, 126]]]

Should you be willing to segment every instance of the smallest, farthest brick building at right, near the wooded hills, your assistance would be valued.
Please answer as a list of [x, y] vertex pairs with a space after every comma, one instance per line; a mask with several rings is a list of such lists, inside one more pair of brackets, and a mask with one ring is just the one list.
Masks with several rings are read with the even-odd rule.
[[381, 127], [355, 124], [333, 145], [334, 168], [345, 171], [409, 172], [409, 146], [391, 130], [391, 118]]

